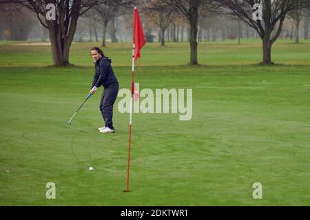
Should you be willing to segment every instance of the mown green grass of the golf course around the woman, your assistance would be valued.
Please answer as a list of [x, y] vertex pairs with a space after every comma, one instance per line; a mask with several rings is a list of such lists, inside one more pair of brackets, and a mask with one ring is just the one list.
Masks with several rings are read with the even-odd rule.
[[[143, 48], [143, 88], [192, 88], [193, 118], [133, 116], [114, 106], [116, 133], [103, 135], [100, 91], [68, 125], [89, 91], [90, 43], [72, 45], [74, 67], [50, 67], [49, 46], [0, 46], [0, 205], [309, 206], [310, 42], [281, 40], [277, 65], [258, 65], [258, 40]], [[131, 45], [108, 45], [121, 88], [130, 88]], [[94, 166], [94, 171], [88, 170]], [[46, 199], [45, 184], [56, 184]], [[263, 199], [253, 199], [261, 182]]]

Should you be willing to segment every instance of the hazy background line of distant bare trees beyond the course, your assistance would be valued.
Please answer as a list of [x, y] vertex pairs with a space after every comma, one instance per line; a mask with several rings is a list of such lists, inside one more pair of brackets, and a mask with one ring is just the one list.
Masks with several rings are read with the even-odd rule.
[[[198, 64], [198, 43], [260, 38], [262, 63], [270, 64], [278, 38], [309, 39], [309, 0], [54, 0], [56, 19], [45, 18], [46, 1], [0, 0], [0, 40], [52, 44], [54, 65], [68, 65], [72, 41], [117, 43], [132, 38], [134, 6], [141, 11], [147, 39], [158, 43], [189, 42], [192, 65]], [[253, 5], [262, 4], [262, 20], [254, 20]], [[18, 16], [16, 16], [18, 14]], [[79, 22], [78, 22], [79, 20]], [[300, 36], [303, 34], [303, 36]], [[151, 41], [151, 40], [149, 40]]]

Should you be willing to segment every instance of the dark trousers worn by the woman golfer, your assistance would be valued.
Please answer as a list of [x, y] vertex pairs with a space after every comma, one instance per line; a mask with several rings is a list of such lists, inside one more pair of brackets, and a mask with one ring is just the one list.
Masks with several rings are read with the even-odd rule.
[[102, 113], [105, 126], [114, 129], [113, 126], [113, 104], [118, 94], [118, 83], [112, 83], [105, 87], [101, 95], [100, 111]]

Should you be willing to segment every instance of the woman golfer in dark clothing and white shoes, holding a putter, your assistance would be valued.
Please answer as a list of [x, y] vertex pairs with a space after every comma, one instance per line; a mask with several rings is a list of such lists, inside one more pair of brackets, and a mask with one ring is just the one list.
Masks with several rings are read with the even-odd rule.
[[90, 94], [103, 85], [104, 90], [101, 95], [100, 111], [105, 122], [105, 126], [99, 128], [101, 133], [113, 133], [115, 131], [113, 118], [113, 104], [118, 94], [118, 81], [114, 75], [111, 59], [105, 56], [99, 47], [92, 47], [92, 58], [94, 58], [95, 73]]

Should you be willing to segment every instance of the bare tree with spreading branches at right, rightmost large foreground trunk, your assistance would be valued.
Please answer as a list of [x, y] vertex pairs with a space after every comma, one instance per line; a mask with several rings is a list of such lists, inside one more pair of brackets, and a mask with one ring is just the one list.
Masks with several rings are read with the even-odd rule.
[[[308, 0], [218, 0], [218, 3], [258, 32], [262, 39], [262, 63], [271, 64], [271, 47], [280, 36], [287, 13], [300, 8], [306, 1]], [[262, 21], [253, 19], [253, 7], [260, 2]]]

